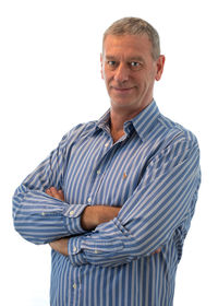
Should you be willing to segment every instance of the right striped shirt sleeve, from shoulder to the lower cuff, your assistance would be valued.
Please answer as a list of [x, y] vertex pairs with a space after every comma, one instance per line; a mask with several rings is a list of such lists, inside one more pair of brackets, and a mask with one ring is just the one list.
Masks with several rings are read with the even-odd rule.
[[186, 235], [201, 181], [196, 139], [178, 137], [150, 160], [117, 217], [69, 240], [72, 264], [119, 266]]

